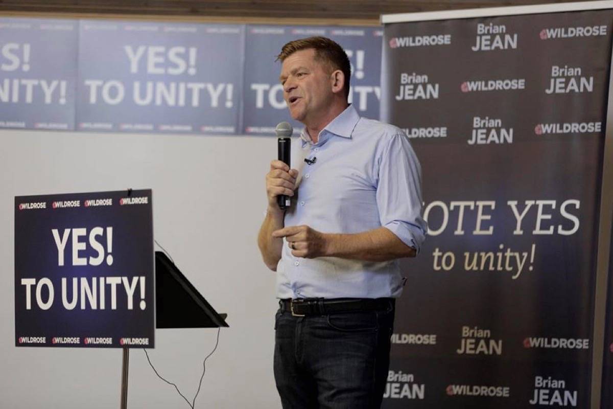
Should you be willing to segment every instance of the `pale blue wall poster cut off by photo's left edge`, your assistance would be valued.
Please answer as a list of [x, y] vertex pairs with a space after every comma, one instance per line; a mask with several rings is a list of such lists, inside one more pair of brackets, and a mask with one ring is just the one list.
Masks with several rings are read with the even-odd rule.
[[0, 18], [0, 128], [74, 129], [77, 28]]

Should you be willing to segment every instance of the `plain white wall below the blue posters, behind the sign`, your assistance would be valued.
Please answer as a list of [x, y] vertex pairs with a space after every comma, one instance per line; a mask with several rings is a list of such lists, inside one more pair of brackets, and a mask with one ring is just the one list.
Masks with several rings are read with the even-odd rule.
[[[154, 237], [228, 314], [196, 408], [279, 408], [272, 373], [275, 276], [256, 235], [271, 137], [0, 131], [0, 407], [120, 405], [121, 350], [17, 348], [13, 196], [153, 189]], [[159, 249], [158, 249], [159, 250]], [[162, 329], [150, 357], [191, 401], [216, 329]], [[129, 408], [187, 408], [142, 350], [130, 354]]]

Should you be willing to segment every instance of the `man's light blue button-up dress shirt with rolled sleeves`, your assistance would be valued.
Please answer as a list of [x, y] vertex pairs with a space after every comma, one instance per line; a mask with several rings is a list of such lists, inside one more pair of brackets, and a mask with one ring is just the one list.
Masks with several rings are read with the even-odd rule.
[[[305, 163], [304, 159], [314, 161]], [[299, 170], [284, 226], [306, 224], [324, 233], [386, 227], [406, 245], [425, 239], [421, 167], [408, 138], [395, 126], [360, 118], [352, 105], [313, 143], [306, 131], [292, 140], [291, 167]], [[276, 268], [278, 298], [400, 297], [398, 260], [371, 262], [292, 256], [283, 239]]]

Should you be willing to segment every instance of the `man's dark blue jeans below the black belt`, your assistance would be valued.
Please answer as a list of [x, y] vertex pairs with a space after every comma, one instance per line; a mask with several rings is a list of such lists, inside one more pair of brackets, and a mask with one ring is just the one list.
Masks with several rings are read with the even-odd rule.
[[275, 317], [275, 381], [283, 409], [381, 407], [394, 301], [381, 311]]

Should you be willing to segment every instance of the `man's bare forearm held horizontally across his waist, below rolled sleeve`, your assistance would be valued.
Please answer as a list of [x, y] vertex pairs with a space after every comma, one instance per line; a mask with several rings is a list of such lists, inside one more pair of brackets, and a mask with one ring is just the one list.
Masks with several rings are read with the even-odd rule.
[[385, 227], [356, 234], [327, 233], [324, 242], [324, 256], [346, 259], [388, 261], [417, 253]]

